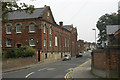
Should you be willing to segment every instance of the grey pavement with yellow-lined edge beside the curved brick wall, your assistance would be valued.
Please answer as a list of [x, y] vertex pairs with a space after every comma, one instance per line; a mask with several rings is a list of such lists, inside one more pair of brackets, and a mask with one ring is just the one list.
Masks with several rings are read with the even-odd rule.
[[65, 75], [65, 79], [68, 80], [77, 78], [99, 78], [91, 72], [91, 59], [72, 69]]

